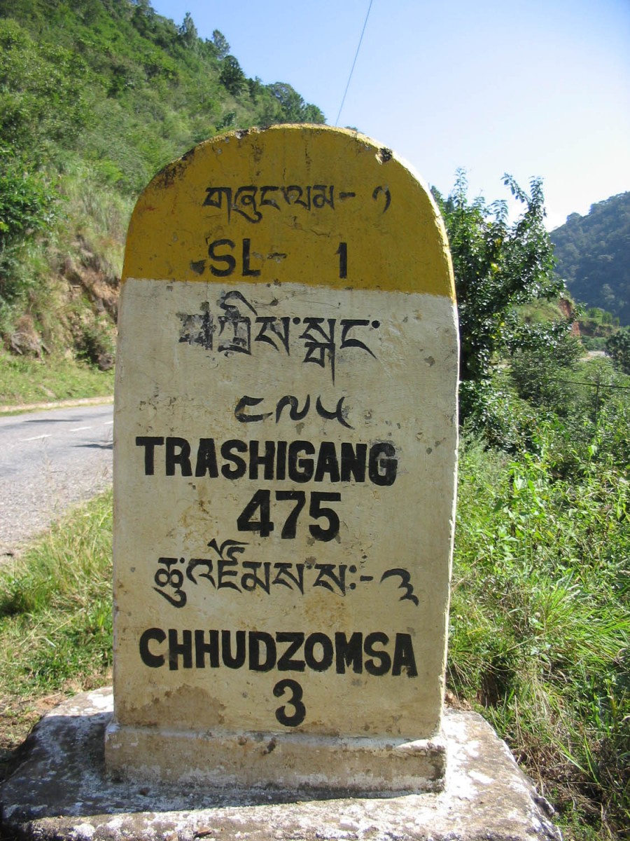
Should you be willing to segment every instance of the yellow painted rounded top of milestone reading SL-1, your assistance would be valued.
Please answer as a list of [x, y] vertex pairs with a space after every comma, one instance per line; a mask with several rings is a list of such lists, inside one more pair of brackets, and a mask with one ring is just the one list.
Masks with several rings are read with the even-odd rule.
[[390, 149], [321, 125], [221, 135], [165, 167], [134, 209], [128, 278], [454, 300], [444, 225], [427, 188]]

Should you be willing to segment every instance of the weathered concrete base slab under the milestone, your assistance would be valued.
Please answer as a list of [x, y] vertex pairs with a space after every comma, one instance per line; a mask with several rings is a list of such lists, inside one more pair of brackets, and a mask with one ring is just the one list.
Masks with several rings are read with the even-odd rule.
[[50, 841], [561, 839], [549, 804], [475, 713], [445, 711], [444, 791], [349, 797], [114, 780], [104, 763], [112, 710], [111, 689], [96, 690], [39, 722], [0, 787], [4, 833]]

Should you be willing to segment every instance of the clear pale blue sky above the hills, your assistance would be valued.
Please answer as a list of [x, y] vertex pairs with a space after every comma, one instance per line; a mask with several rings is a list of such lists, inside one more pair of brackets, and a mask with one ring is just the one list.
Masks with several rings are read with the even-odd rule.
[[[335, 124], [370, 0], [152, 0]], [[630, 0], [372, 0], [340, 125], [449, 193], [543, 177], [549, 228], [630, 190]]]

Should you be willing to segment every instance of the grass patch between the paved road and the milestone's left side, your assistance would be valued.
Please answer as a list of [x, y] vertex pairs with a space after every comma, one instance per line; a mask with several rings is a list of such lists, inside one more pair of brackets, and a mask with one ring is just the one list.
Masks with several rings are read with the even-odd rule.
[[0, 568], [0, 778], [45, 711], [111, 681], [111, 542], [110, 490]]

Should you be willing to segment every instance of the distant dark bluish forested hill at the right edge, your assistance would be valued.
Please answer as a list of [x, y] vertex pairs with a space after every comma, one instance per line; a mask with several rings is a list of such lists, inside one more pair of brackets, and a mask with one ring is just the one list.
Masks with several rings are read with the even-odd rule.
[[551, 233], [556, 272], [576, 301], [601, 307], [630, 325], [630, 193], [571, 214]]

